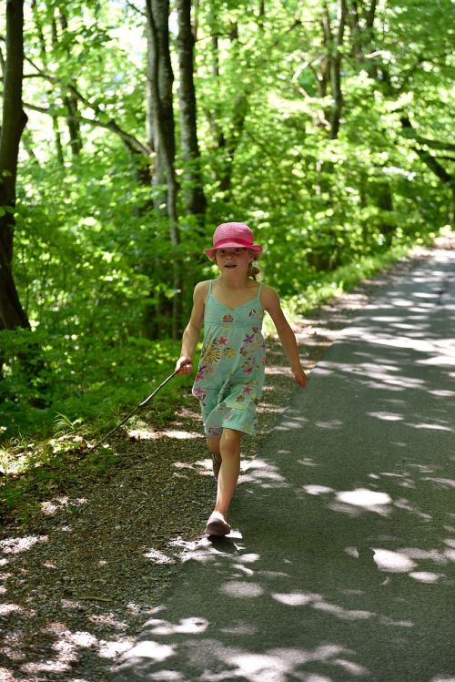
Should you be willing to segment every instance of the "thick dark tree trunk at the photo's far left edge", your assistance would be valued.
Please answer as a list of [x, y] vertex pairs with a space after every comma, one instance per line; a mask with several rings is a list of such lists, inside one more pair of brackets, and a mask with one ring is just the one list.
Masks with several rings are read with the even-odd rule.
[[26, 116], [22, 108], [24, 70], [24, 2], [6, 2], [6, 58], [4, 103], [0, 133], [0, 328], [29, 329], [25, 311], [17, 296], [12, 272], [15, 229], [15, 178], [20, 139]]

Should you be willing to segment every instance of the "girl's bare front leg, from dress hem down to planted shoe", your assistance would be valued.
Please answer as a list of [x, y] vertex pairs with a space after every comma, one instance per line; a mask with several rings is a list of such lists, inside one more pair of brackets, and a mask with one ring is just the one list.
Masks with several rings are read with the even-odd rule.
[[241, 437], [241, 431], [224, 428], [219, 439], [221, 468], [218, 473], [217, 504], [214, 511], [222, 514], [225, 520], [240, 473]]

